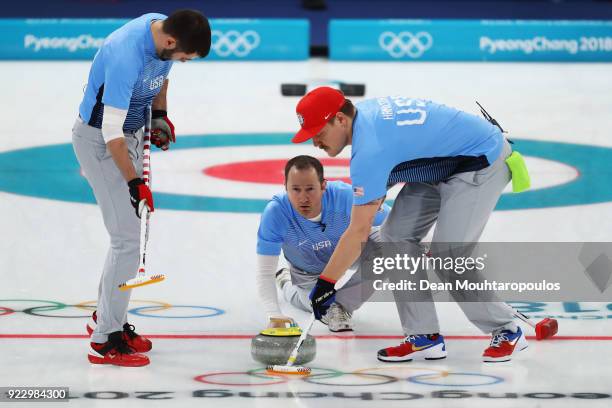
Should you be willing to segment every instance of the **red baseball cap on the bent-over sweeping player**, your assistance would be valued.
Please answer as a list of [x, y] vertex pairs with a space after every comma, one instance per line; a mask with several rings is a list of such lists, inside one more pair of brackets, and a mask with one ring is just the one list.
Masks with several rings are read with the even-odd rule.
[[302, 143], [319, 133], [344, 105], [344, 94], [329, 86], [313, 89], [300, 99], [295, 112], [300, 121], [299, 132], [291, 141]]

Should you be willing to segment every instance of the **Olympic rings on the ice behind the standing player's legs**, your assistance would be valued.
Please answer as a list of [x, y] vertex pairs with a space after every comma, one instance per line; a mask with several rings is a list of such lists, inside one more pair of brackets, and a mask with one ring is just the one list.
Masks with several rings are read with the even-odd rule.
[[[96, 310], [95, 300], [80, 302], [74, 305], [68, 305], [62, 302], [53, 300], [41, 299], [0, 299], [0, 317], [8, 316], [13, 313], [25, 313], [30, 316], [38, 317], [56, 317], [64, 319], [82, 319], [89, 318], [94, 310]], [[224, 310], [210, 306], [197, 305], [172, 305], [167, 302], [157, 300], [131, 300], [131, 303], [142, 304], [142, 306], [132, 307], [128, 309], [128, 313], [140, 316], [151, 317], [158, 319], [201, 319], [205, 317], [219, 316], [225, 313]], [[19, 308], [17, 305], [25, 304], [26, 307]], [[11, 307], [9, 307], [11, 306]], [[187, 310], [195, 310], [191, 313], [185, 313]], [[59, 313], [52, 313], [60, 311]], [[85, 312], [76, 312], [83, 310]]]

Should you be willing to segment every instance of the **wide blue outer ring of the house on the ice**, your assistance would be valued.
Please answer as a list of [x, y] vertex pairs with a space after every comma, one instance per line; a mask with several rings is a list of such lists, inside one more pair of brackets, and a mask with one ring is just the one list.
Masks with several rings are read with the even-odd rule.
[[[291, 145], [291, 133], [246, 133], [183, 136], [173, 150]], [[496, 210], [524, 210], [596, 204], [612, 201], [612, 148], [541, 140], [513, 139], [525, 156], [574, 167], [579, 176], [570, 182], [521, 194], [503, 194]], [[28, 197], [95, 204], [91, 188], [79, 173], [69, 143], [29, 147], [0, 153], [0, 191]], [[267, 199], [228, 198], [155, 193], [157, 208], [184, 211], [260, 213]]]

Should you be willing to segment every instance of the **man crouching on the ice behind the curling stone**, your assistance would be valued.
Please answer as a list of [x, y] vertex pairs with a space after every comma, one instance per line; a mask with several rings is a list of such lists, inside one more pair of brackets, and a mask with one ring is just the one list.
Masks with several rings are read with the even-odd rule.
[[[348, 227], [353, 207], [351, 186], [326, 181], [323, 166], [314, 157], [289, 160], [285, 180], [286, 191], [268, 203], [257, 232], [257, 286], [272, 327], [292, 321], [280, 310], [274, 284], [281, 251], [289, 269], [278, 271], [277, 285], [286, 301], [311, 311], [309, 293]], [[378, 240], [378, 226], [388, 212], [386, 204], [376, 211], [369, 239]], [[351, 314], [367, 299], [365, 290], [356, 273], [338, 291], [323, 320], [331, 331], [352, 330]]]

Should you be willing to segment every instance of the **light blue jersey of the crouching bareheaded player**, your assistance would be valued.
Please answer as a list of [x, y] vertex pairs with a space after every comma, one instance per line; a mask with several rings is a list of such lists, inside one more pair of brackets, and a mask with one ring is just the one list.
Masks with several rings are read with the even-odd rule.
[[[257, 254], [280, 255], [282, 249], [296, 268], [313, 274], [323, 272], [351, 221], [352, 188], [341, 181], [330, 181], [322, 200], [321, 221], [313, 222], [291, 206], [286, 192], [272, 197], [261, 215]], [[389, 207], [383, 205], [374, 225], [382, 224], [388, 213]]]

